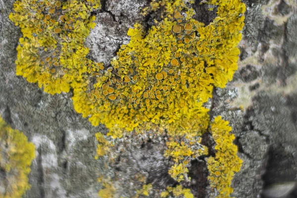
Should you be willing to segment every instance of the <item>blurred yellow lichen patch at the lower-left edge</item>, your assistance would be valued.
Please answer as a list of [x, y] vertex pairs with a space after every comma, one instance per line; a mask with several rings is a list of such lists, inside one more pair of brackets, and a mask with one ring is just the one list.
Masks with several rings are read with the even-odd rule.
[[0, 198], [21, 198], [30, 188], [28, 174], [35, 146], [0, 117]]

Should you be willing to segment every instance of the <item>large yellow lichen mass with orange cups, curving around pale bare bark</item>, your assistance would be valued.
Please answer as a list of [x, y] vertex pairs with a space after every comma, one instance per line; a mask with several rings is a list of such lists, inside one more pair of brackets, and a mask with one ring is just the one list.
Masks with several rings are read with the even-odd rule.
[[23, 33], [17, 75], [50, 94], [72, 88], [75, 110], [95, 126], [105, 124], [114, 139], [125, 131], [166, 130], [164, 155], [174, 161], [169, 173], [178, 182], [190, 180], [189, 162], [207, 154], [200, 144], [209, 125], [203, 103], [237, 70], [246, 10], [240, 0], [203, 2], [217, 6], [208, 25], [193, 18], [193, 0], [153, 0], [144, 14], [157, 10], [162, 20], [148, 32], [136, 23], [127, 33], [130, 43], [105, 68], [86, 58], [84, 47], [99, 0], [16, 1], [10, 19]]

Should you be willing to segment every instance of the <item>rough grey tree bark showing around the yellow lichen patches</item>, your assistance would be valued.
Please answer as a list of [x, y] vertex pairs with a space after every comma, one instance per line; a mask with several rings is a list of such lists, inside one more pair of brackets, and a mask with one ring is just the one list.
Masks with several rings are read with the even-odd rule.
[[[29, 176], [32, 188], [24, 197], [96, 198], [102, 188], [97, 182], [99, 175], [117, 176], [118, 196], [124, 197], [132, 197], [142, 188], [138, 174], [153, 185], [152, 198], [176, 184], [167, 173], [170, 166], [162, 155], [163, 140], [126, 140], [129, 152], [113, 166], [105, 166], [106, 159], [94, 158], [94, 135], [107, 129], [92, 126], [75, 112], [72, 93], [51, 96], [15, 75], [15, 48], [21, 33], [8, 19], [13, 2], [0, 0], [0, 114], [36, 146]], [[277, 195], [273, 192], [278, 192], [293, 198], [292, 182], [297, 180], [297, 1], [244, 2], [246, 26], [239, 69], [225, 89], [213, 92], [211, 117], [221, 115], [230, 121], [244, 160], [233, 179], [234, 197], [257, 198], [262, 194], [273, 198]], [[102, 0], [102, 9], [94, 13], [97, 26], [86, 41], [89, 57], [108, 64], [118, 48], [129, 42], [126, 32], [136, 21], [153, 25], [157, 15], [144, 18], [140, 14], [139, 7], [147, 3]], [[205, 23], [215, 17], [215, 12], [198, 3], [196, 12], [197, 19]], [[211, 148], [211, 137], [204, 136]], [[188, 188], [196, 197], [207, 198], [210, 189], [205, 161], [193, 161], [189, 175], [192, 181]], [[270, 188], [278, 183], [284, 184]]]

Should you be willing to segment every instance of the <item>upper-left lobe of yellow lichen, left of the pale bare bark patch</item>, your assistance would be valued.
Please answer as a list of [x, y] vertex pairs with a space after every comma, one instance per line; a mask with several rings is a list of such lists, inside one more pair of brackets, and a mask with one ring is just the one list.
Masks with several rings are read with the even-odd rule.
[[[99, 0], [15, 1], [15, 12], [9, 18], [23, 33], [17, 47], [16, 74], [55, 94], [69, 92], [84, 75], [98, 72], [102, 64], [86, 58], [89, 49], [84, 47], [96, 25], [91, 11], [98, 7]], [[52, 58], [56, 61], [50, 61]]]

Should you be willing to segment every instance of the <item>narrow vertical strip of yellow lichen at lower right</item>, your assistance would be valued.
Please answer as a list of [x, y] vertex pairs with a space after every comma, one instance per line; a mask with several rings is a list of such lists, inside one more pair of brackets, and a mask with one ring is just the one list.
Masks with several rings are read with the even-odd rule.
[[208, 157], [206, 161], [209, 184], [218, 191], [217, 198], [229, 197], [233, 192], [231, 180], [234, 172], [238, 172], [243, 163], [242, 159], [237, 156], [237, 146], [232, 143], [235, 136], [230, 134], [232, 128], [228, 124], [228, 121], [218, 116], [210, 125], [217, 152], [215, 157]]

